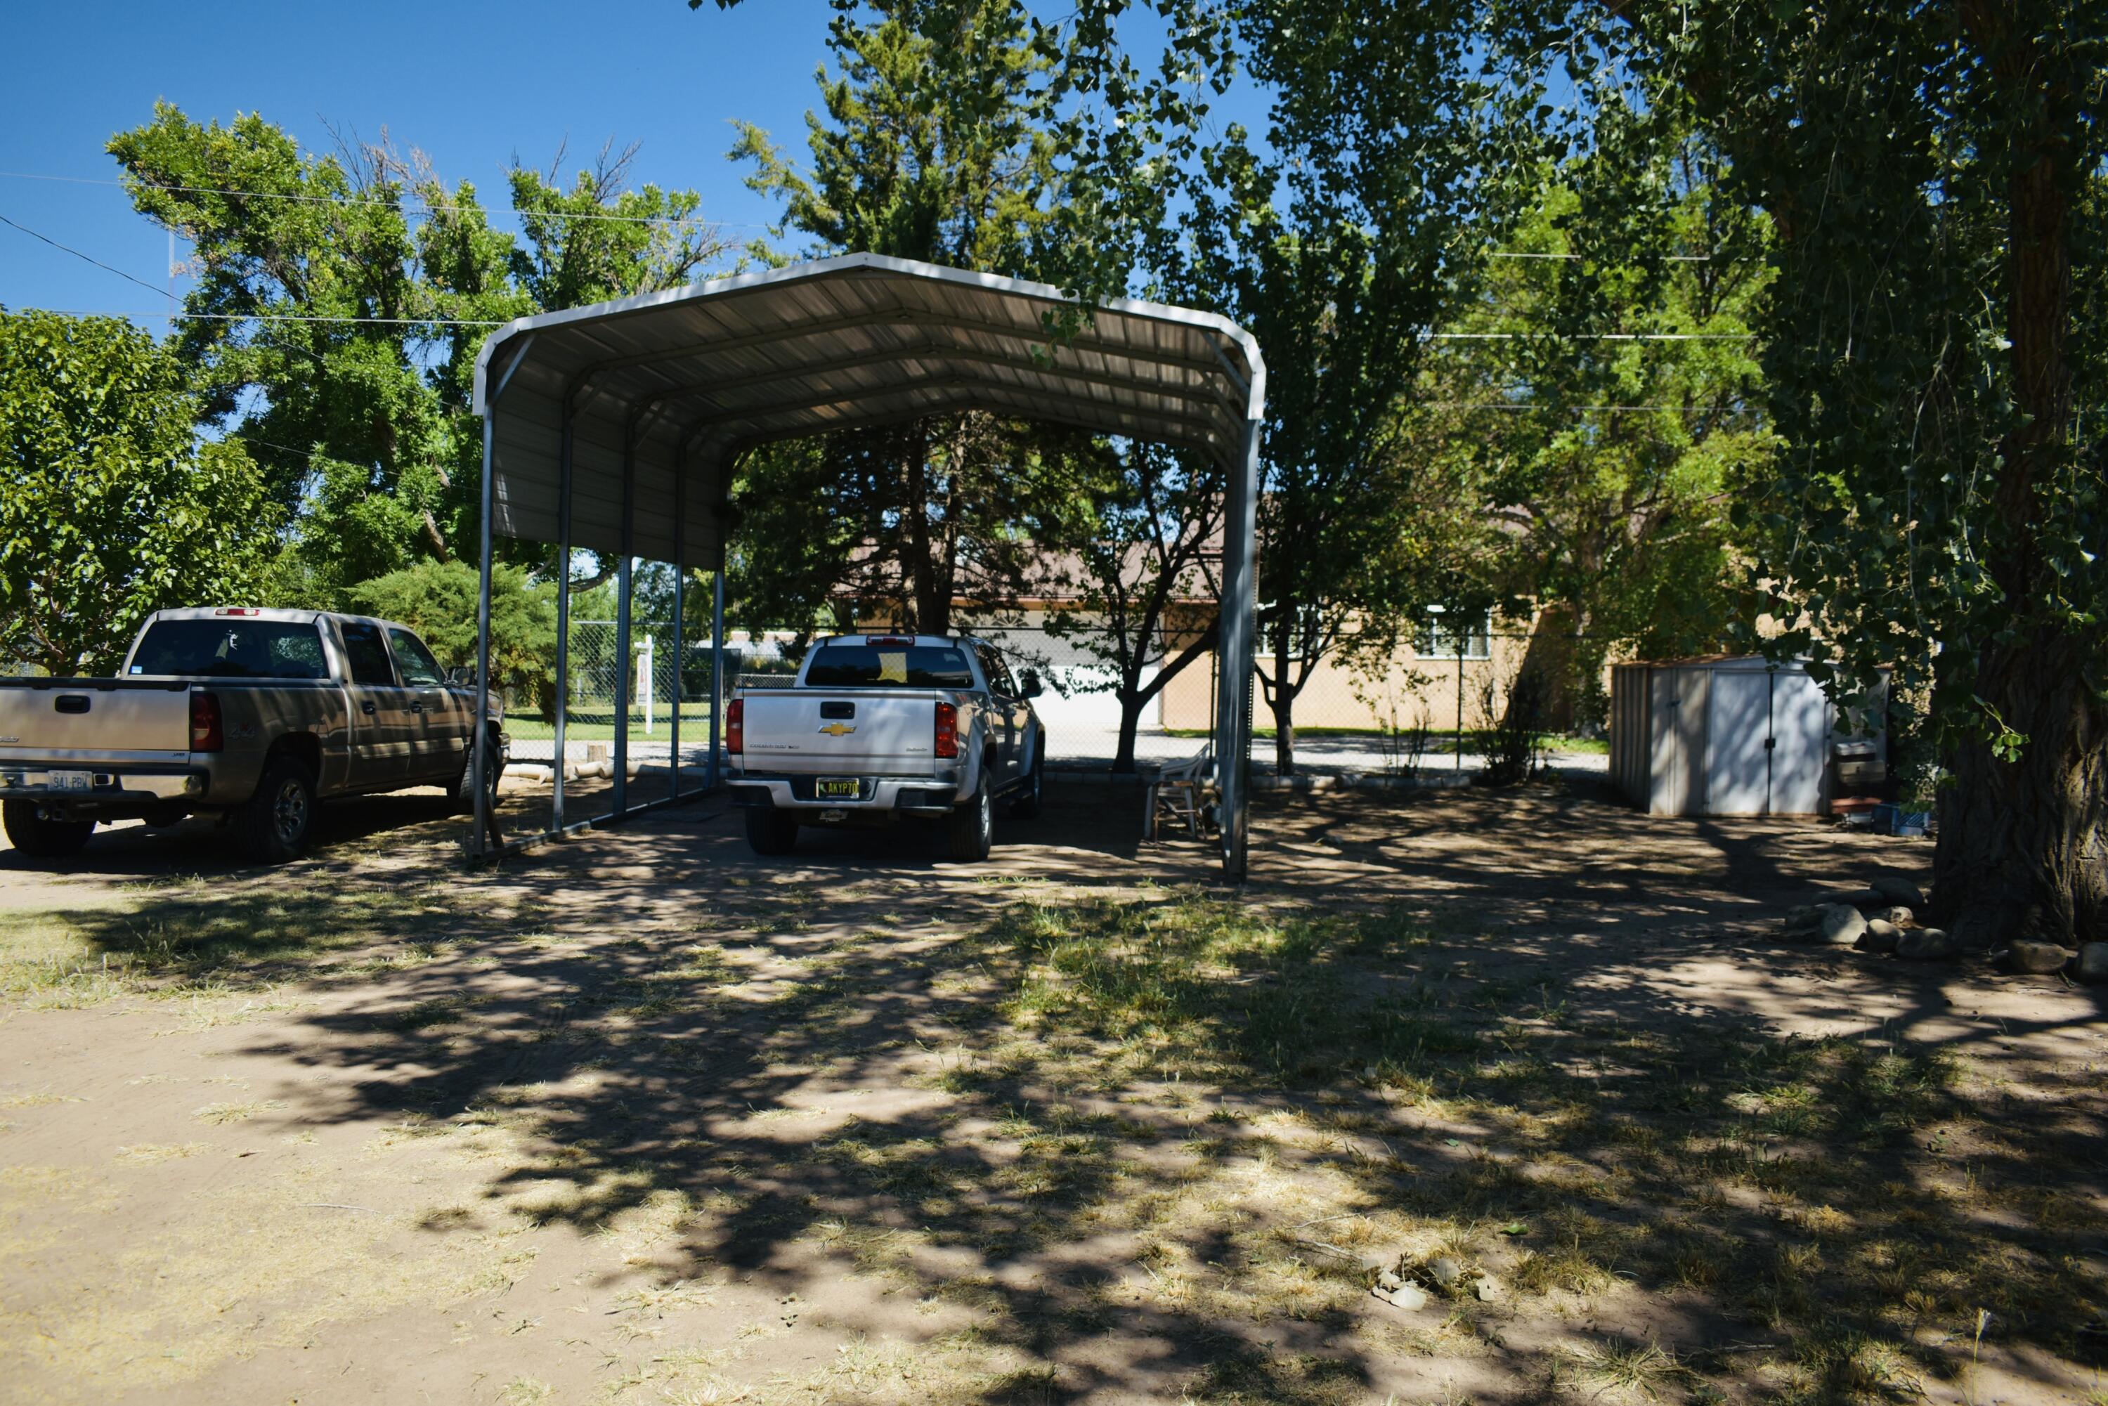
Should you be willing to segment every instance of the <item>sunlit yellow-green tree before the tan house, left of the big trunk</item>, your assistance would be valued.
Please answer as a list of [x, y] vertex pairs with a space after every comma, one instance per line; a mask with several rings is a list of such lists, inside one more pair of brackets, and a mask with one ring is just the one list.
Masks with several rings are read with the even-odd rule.
[[1448, 434], [1499, 525], [1480, 575], [1537, 611], [1545, 725], [1602, 721], [1611, 649], [1720, 647], [1745, 605], [1729, 500], [1777, 447], [1750, 333], [1769, 236], [1718, 179], [1718, 150], [1663, 114], [1600, 112], [1448, 325], [1436, 405], [1406, 407], [1465, 411]]

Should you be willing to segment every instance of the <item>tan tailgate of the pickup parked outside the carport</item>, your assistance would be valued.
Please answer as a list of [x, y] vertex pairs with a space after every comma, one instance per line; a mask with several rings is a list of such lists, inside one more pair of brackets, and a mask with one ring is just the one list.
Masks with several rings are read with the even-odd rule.
[[190, 755], [190, 685], [11, 679], [0, 761], [169, 761]]

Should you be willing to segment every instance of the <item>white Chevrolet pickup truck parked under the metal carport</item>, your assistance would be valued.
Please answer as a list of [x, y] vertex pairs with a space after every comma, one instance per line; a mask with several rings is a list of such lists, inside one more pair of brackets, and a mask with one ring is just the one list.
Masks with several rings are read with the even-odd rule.
[[942, 822], [944, 852], [984, 860], [995, 805], [1039, 814], [1039, 677], [995, 645], [949, 634], [837, 634], [786, 689], [742, 689], [725, 710], [729, 795], [755, 854], [786, 854], [801, 824]]

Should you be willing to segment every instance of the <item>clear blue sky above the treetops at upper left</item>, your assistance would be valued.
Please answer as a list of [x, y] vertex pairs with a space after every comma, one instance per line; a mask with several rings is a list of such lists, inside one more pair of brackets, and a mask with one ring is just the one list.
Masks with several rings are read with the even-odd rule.
[[[23, 4], [4, 23], [0, 171], [114, 181], [103, 143], [167, 97], [200, 120], [261, 112], [320, 150], [329, 124], [360, 137], [386, 126], [487, 200], [504, 198], [514, 154], [546, 167], [569, 139], [569, 173], [609, 137], [641, 141], [639, 181], [694, 188], [708, 217], [761, 226], [776, 209], [725, 160], [729, 124], [803, 145], [828, 13], [824, 0], [731, 13], [683, 0]], [[0, 215], [167, 285], [167, 234], [116, 185], [0, 175]], [[0, 226], [0, 304], [150, 314], [167, 299]]]

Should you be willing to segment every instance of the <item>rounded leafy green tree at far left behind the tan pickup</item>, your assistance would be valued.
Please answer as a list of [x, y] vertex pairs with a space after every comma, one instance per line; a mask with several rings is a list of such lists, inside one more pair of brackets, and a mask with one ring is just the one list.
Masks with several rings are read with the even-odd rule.
[[120, 318], [0, 310], [0, 658], [110, 672], [156, 609], [261, 599], [280, 514]]

